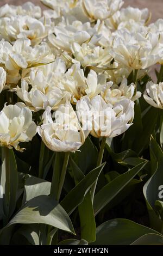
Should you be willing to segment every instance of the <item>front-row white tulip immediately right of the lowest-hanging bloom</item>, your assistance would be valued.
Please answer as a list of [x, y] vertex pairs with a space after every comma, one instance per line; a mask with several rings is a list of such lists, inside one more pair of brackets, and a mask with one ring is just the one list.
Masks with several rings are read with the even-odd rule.
[[116, 137], [125, 132], [134, 118], [134, 102], [121, 100], [114, 106], [107, 104], [100, 95], [91, 100], [85, 96], [77, 102], [77, 114], [83, 130], [94, 137]]

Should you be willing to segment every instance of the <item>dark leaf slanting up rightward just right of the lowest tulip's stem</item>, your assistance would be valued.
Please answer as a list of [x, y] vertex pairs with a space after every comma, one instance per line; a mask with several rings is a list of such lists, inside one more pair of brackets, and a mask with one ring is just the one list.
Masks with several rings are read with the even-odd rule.
[[69, 215], [80, 203], [83, 202], [86, 193], [89, 191], [92, 184], [98, 179], [98, 176], [102, 172], [104, 166], [105, 163], [88, 173], [85, 178], [80, 181], [78, 185], [76, 185], [62, 200], [60, 204]]

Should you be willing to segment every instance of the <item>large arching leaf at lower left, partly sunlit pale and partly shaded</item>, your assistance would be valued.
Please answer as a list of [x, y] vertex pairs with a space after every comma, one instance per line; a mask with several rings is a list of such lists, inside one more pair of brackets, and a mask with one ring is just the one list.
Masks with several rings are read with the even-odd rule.
[[73, 225], [66, 211], [49, 196], [35, 197], [27, 202], [5, 226], [13, 224], [42, 223], [74, 233]]

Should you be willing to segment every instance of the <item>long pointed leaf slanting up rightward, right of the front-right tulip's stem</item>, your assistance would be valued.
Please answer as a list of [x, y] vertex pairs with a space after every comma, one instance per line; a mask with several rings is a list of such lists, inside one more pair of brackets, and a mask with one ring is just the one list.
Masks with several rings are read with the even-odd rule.
[[106, 184], [96, 195], [94, 199], [95, 215], [101, 211], [106, 204], [108, 204], [118, 193], [134, 178], [134, 176], [145, 167], [146, 161], [138, 164], [128, 172], [121, 174], [109, 184]]

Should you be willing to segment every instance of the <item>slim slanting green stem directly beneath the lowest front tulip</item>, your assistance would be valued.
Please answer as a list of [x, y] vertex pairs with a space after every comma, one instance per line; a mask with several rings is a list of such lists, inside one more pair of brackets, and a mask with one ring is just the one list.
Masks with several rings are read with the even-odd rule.
[[66, 170], [68, 166], [68, 160], [70, 157], [70, 152], [65, 153], [65, 159], [64, 159], [64, 164], [61, 170], [61, 176], [60, 176], [60, 182], [59, 182], [59, 188], [58, 188], [58, 193], [57, 193], [57, 201], [59, 202], [62, 187], [64, 186], [64, 181], [65, 181], [65, 176], [66, 176]]

